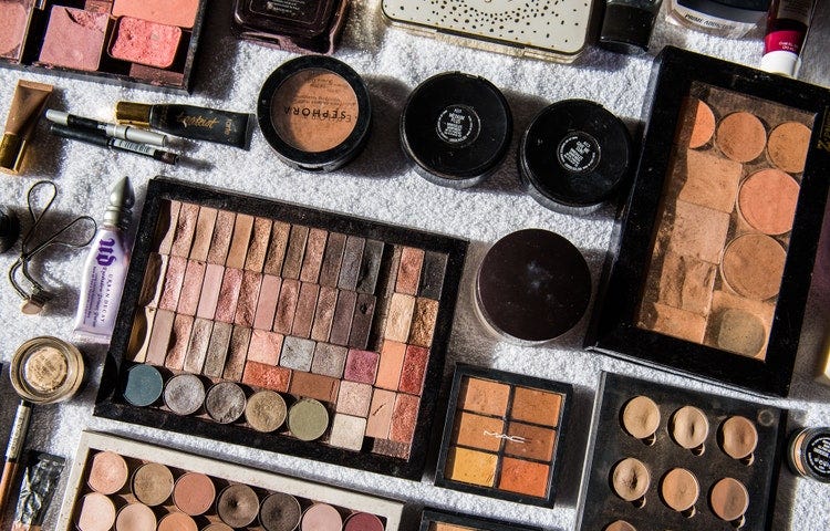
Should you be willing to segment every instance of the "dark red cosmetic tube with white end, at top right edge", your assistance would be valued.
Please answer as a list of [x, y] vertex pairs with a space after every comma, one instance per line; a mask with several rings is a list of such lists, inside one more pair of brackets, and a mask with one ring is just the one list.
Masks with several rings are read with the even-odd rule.
[[795, 76], [810, 25], [815, 0], [772, 0], [767, 17], [761, 70]]

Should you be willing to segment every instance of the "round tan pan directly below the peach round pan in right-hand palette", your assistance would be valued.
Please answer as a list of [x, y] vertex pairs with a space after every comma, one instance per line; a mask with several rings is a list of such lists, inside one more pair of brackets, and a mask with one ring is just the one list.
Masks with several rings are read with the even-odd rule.
[[765, 301], [778, 294], [787, 252], [775, 239], [748, 233], [727, 244], [720, 262], [724, 281], [747, 299]]

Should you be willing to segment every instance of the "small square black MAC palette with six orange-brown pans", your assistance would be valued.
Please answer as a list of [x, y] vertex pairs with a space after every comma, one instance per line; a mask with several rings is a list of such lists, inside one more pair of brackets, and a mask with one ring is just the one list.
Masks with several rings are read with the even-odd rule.
[[435, 485], [551, 506], [573, 389], [458, 364]]

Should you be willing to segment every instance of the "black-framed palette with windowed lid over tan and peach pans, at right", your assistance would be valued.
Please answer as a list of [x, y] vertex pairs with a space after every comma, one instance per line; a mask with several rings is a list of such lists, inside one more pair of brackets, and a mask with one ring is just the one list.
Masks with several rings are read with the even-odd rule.
[[673, 48], [657, 64], [587, 343], [786, 395], [827, 198], [830, 92]]

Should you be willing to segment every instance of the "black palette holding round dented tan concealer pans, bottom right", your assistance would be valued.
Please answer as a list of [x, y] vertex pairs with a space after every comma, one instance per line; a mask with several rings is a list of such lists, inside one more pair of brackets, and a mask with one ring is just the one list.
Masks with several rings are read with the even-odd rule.
[[767, 530], [786, 412], [603, 373], [578, 529]]

